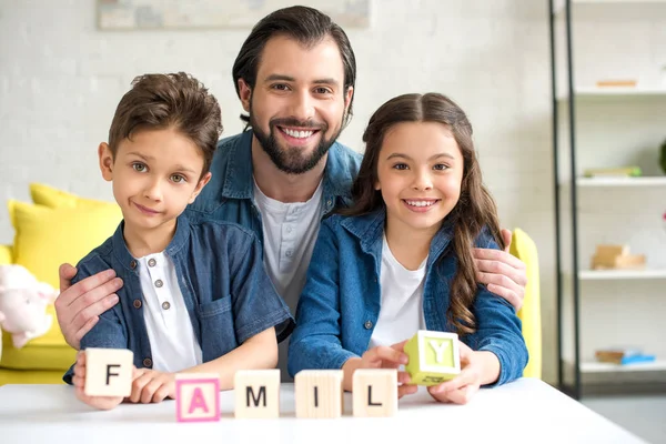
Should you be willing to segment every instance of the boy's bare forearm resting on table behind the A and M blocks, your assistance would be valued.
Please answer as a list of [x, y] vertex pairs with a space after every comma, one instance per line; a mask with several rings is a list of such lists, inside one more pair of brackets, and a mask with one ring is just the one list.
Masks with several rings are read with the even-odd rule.
[[216, 373], [220, 390], [233, 389], [236, 371], [248, 369], [274, 369], [278, 364], [275, 329], [270, 327], [248, 339], [239, 347], [216, 360], [178, 373]]

